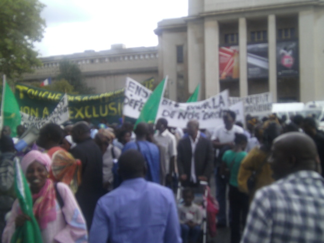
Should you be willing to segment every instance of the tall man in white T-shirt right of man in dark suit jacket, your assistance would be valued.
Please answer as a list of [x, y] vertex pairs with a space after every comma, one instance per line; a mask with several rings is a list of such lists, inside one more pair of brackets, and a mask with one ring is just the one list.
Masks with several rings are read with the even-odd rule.
[[226, 187], [227, 182], [221, 177], [219, 173], [221, 158], [224, 152], [232, 149], [234, 146], [235, 133], [244, 133], [244, 129], [235, 125], [236, 114], [234, 111], [228, 110], [223, 116], [224, 124], [217, 127], [213, 133], [211, 140], [213, 146], [217, 149], [216, 153], [216, 198], [219, 203], [218, 225], [223, 227], [227, 225], [226, 218]]

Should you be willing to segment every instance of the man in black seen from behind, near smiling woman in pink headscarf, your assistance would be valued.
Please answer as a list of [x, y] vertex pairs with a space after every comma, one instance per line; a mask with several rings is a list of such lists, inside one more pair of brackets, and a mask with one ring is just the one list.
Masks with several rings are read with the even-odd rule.
[[90, 229], [98, 199], [105, 194], [102, 182], [102, 153], [90, 137], [90, 128], [84, 122], [76, 123], [71, 131], [77, 144], [71, 154], [82, 163], [81, 185], [75, 194]]

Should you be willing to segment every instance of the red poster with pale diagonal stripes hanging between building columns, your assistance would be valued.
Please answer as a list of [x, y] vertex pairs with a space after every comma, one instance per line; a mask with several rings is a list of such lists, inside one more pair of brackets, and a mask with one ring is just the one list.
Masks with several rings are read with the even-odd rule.
[[232, 80], [240, 77], [239, 46], [219, 47], [219, 73], [221, 80]]

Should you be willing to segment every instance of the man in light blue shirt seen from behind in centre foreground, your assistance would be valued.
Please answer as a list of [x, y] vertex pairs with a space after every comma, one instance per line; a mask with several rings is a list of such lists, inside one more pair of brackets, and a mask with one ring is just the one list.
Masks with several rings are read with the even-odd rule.
[[119, 158], [122, 184], [97, 203], [90, 243], [181, 243], [170, 189], [144, 179], [145, 160], [134, 149]]

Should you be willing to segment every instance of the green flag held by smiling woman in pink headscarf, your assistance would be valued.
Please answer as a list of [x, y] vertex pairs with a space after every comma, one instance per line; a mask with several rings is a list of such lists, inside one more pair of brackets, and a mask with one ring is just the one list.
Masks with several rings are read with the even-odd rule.
[[16, 227], [11, 243], [42, 243], [38, 223], [32, 212], [32, 197], [26, 178], [24, 177], [19, 160], [14, 158], [14, 186], [21, 212], [29, 216], [23, 226]]

